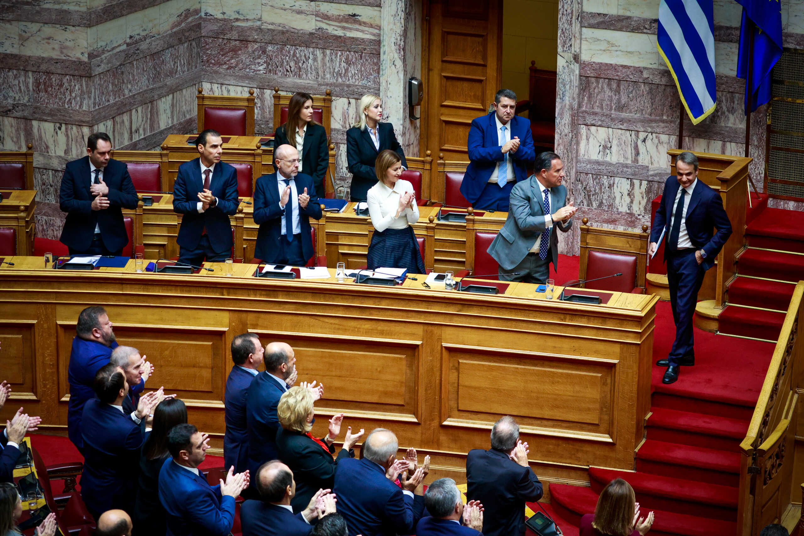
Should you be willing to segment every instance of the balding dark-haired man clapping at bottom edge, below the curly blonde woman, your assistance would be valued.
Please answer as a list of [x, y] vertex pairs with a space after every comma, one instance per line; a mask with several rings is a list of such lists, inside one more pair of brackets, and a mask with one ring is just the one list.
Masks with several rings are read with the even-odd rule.
[[257, 469], [256, 487], [260, 500], [250, 499], [240, 508], [243, 536], [306, 536], [311, 524], [335, 511], [335, 497], [329, 489], [319, 489], [307, 507], [293, 515], [290, 502], [296, 493], [293, 472], [279, 460]]

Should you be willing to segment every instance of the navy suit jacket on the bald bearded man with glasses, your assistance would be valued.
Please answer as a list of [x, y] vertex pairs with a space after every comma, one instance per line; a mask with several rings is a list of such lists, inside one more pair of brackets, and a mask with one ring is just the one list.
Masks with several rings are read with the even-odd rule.
[[[310, 235], [310, 218], [321, 219], [321, 203], [318, 203], [318, 194], [313, 184], [313, 178], [307, 174], [297, 174], [294, 178], [296, 191], [299, 194], [310, 195], [306, 208], [299, 205], [299, 227], [301, 227], [301, 251], [305, 260], [315, 255], [313, 239]], [[292, 195], [292, 194], [291, 194]], [[288, 200], [288, 203], [291, 203]], [[285, 210], [287, 205], [285, 205]], [[254, 223], [260, 226], [256, 233], [254, 257], [266, 263], [273, 263], [279, 254], [279, 240], [282, 235], [282, 219], [285, 211], [279, 206], [279, 180], [277, 174], [263, 175], [256, 179], [254, 188]]]

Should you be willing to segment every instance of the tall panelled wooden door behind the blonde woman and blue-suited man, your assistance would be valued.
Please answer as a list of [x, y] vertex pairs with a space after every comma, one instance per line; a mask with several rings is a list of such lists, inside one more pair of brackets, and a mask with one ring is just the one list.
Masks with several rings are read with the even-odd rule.
[[468, 162], [472, 120], [487, 113], [500, 84], [503, 2], [430, 0], [425, 8], [422, 153]]

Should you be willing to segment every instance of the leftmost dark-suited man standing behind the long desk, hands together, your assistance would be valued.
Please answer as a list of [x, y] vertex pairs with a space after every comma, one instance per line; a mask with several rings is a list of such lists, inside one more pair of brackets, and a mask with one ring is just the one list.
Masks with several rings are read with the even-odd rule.
[[70, 255], [120, 256], [129, 243], [121, 208], [137, 208], [137, 190], [129, 167], [111, 153], [109, 134], [96, 132], [87, 139], [87, 156], [64, 168], [59, 208], [67, 220], [59, 240]]

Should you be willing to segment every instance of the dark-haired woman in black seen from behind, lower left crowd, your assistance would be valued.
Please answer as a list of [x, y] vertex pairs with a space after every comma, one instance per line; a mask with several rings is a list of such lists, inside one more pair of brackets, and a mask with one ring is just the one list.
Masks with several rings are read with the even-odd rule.
[[139, 485], [134, 503], [134, 534], [164, 536], [165, 509], [159, 502], [159, 471], [170, 457], [167, 433], [177, 424], [187, 423], [187, 406], [178, 399], [165, 399], [154, 409], [152, 429], [142, 445]]

